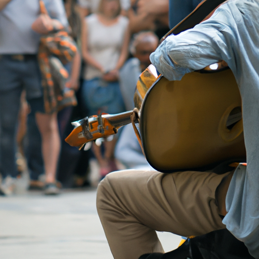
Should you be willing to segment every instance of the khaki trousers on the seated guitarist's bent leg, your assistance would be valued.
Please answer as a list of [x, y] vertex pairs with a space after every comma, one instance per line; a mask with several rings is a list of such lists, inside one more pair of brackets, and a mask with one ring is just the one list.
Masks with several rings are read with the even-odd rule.
[[98, 186], [97, 210], [114, 258], [163, 252], [155, 230], [199, 236], [225, 228], [215, 190], [227, 174], [123, 170], [107, 175]]

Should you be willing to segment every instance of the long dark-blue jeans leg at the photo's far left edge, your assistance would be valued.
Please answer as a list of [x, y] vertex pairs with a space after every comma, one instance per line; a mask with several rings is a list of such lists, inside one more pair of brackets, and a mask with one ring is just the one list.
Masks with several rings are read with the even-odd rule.
[[22, 63], [0, 55], [0, 173], [16, 178], [16, 131], [22, 85], [19, 69]]

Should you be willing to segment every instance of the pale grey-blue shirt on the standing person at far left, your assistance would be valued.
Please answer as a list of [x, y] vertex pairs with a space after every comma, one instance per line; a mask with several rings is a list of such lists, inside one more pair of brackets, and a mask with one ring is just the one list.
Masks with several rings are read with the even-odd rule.
[[[61, 0], [44, 0], [52, 18], [68, 26]], [[39, 15], [38, 0], [12, 0], [0, 11], [0, 54], [36, 54], [40, 35], [31, 29]]]

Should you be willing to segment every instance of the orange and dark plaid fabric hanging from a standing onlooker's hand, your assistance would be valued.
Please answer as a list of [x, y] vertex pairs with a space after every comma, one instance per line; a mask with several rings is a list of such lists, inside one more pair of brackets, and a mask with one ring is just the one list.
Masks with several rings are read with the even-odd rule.
[[[41, 0], [39, 2], [41, 14], [46, 14], [44, 3]], [[40, 38], [38, 62], [46, 113], [59, 109], [59, 102], [64, 98], [65, 83], [69, 77], [64, 65], [72, 61], [76, 50], [76, 44], [69, 36], [68, 30], [55, 22], [51, 31]]]

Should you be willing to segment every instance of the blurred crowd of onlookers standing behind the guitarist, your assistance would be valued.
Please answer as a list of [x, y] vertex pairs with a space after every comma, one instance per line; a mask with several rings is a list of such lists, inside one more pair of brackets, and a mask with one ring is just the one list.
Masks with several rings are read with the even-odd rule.
[[[40, 2], [47, 13], [39, 21]], [[186, 16], [169, 19], [168, 10], [168, 0], [0, 2], [1, 195], [15, 193], [24, 170], [30, 176], [28, 189], [55, 195], [60, 188], [91, 185], [91, 159], [97, 161], [99, 180], [120, 166], [150, 168], [131, 125], [82, 150], [70, 147], [64, 139], [73, 129], [72, 121], [134, 108], [136, 82], [149, 66], [159, 39], [169, 31], [169, 20], [173, 27]], [[63, 62], [59, 70], [68, 74], [62, 101], [53, 93], [55, 75], [52, 83], [46, 73], [49, 103], [39, 67], [46, 58], [52, 64], [51, 56], [39, 55], [39, 42], [50, 33], [45, 31], [46, 17], [50, 24], [65, 28], [77, 47], [72, 60]], [[56, 106], [50, 111], [47, 108], [53, 102]]]

